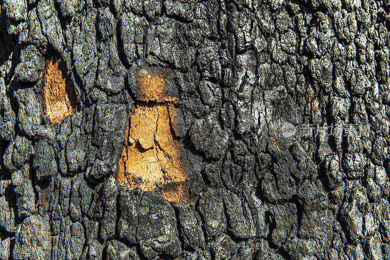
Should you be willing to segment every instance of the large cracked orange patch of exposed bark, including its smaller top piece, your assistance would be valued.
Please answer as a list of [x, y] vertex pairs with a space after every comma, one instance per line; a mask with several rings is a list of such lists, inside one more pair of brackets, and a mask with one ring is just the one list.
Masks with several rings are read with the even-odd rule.
[[176, 108], [170, 101], [175, 97], [165, 92], [163, 74], [141, 69], [137, 77], [142, 103], [128, 117], [117, 179], [130, 189], [160, 189], [169, 201], [187, 200], [180, 144], [171, 134], [175, 122], [170, 121], [170, 114], [175, 114]]

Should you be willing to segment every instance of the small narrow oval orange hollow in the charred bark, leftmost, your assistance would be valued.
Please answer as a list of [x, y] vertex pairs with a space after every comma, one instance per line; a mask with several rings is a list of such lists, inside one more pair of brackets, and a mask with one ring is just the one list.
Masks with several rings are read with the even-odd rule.
[[73, 115], [77, 107], [76, 93], [70, 72], [58, 56], [46, 61], [42, 71], [44, 78], [43, 101], [45, 114], [52, 123], [61, 123]]

